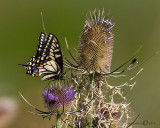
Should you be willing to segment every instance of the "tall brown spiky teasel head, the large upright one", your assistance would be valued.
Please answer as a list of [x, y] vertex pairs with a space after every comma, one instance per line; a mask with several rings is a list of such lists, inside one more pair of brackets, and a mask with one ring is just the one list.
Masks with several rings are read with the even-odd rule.
[[95, 10], [89, 13], [85, 22], [79, 44], [80, 68], [89, 74], [110, 72], [114, 23], [104, 11]]

